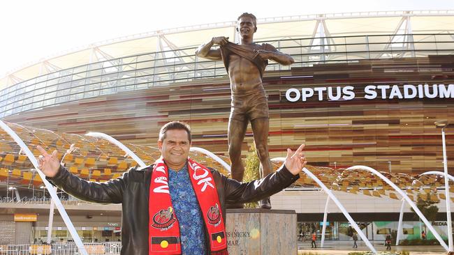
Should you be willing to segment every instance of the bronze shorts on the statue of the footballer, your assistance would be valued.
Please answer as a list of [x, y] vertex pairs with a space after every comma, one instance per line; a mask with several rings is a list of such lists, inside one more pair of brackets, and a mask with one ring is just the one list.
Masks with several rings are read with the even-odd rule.
[[253, 121], [256, 118], [269, 118], [268, 98], [264, 90], [245, 95], [232, 94], [230, 118], [237, 121]]

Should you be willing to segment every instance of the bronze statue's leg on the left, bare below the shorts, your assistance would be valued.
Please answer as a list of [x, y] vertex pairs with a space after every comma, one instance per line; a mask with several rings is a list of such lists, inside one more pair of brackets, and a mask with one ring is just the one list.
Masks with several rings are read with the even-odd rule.
[[238, 181], [243, 180], [244, 166], [241, 160], [241, 145], [246, 134], [247, 120], [239, 121], [235, 118], [228, 120], [228, 156], [232, 165], [230, 171], [232, 178]]

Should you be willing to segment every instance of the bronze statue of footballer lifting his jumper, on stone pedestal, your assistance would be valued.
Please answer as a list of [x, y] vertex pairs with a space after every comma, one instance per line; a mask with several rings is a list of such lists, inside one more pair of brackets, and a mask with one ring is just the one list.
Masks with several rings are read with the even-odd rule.
[[[268, 100], [262, 84], [268, 60], [282, 65], [291, 65], [294, 61], [290, 55], [277, 51], [268, 43], [258, 45], [253, 42], [254, 33], [257, 31], [254, 15], [243, 13], [237, 22], [240, 44], [229, 42], [228, 37], [214, 37], [210, 42], [200, 45], [196, 55], [205, 59], [222, 60], [226, 66], [232, 91], [232, 107], [228, 120], [228, 155], [232, 162], [232, 178], [242, 181], [244, 166], [241, 160], [241, 144], [249, 121], [261, 162], [261, 177], [272, 171], [268, 154]], [[219, 45], [219, 49], [212, 49], [213, 45]], [[270, 198], [260, 201], [260, 206], [271, 208]]]

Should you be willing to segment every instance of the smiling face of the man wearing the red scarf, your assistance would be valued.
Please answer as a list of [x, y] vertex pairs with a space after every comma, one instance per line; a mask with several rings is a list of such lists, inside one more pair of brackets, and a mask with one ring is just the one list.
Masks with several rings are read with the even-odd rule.
[[158, 141], [164, 162], [170, 169], [180, 170], [186, 164], [191, 148], [188, 133], [186, 130], [167, 130], [165, 137]]

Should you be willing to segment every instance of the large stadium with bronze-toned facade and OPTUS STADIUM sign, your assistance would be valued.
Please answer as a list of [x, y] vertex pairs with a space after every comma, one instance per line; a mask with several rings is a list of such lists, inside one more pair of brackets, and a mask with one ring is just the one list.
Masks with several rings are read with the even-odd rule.
[[[270, 61], [263, 77], [271, 157], [304, 142], [309, 169], [334, 190], [370, 240], [397, 229], [401, 195], [377, 176], [346, 170], [354, 165], [384, 171], [413, 201], [437, 204], [432, 224], [446, 231], [444, 180], [419, 174], [443, 171], [441, 130], [434, 121], [454, 123], [454, 10], [273, 17], [258, 19], [257, 26], [256, 42], [295, 59], [289, 66]], [[235, 27], [223, 22], [141, 33], [31, 63], [0, 80], [0, 117], [30, 148], [44, 144], [63, 154], [75, 144], [64, 162], [91, 180], [116, 178], [136, 163], [84, 134], [109, 134], [151, 163], [159, 155], [149, 147], [156, 145], [159, 128], [175, 120], [191, 125], [193, 146], [228, 162], [228, 75], [221, 61], [194, 52], [214, 36], [237, 42]], [[454, 134], [449, 126], [445, 131], [451, 159]], [[249, 131], [243, 155], [252, 144]], [[1, 150], [0, 242], [43, 240], [46, 191], [6, 133]], [[205, 162], [228, 174], [217, 162]], [[453, 173], [452, 162], [447, 166]], [[85, 241], [121, 238], [121, 206], [61, 196]], [[307, 231], [321, 229], [325, 202], [326, 194], [304, 174], [272, 197], [273, 208], [295, 210]], [[409, 206], [402, 208], [405, 236], [419, 238], [423, 226]], [[348, 240], [349, 222], [333, 203], [328, 211], [326, 238]], [[13, 219], [24, 214], [35, 215], [34, 223]], [[23, 229], [31, 235], [21, 236]], [[58, 217], [52, 232], [55, 241], [71, 239]]]

